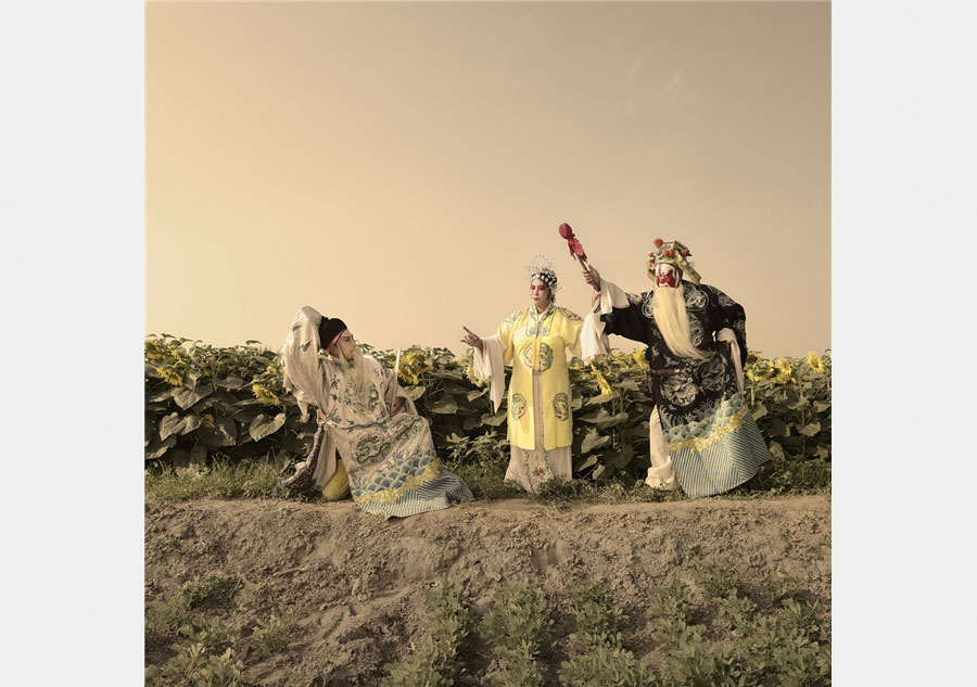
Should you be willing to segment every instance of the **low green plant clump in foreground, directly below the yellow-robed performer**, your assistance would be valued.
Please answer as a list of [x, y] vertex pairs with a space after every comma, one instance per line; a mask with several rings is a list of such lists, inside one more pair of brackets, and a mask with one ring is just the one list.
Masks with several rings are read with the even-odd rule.
[[538, 585], [519, 581], [496, 589], [493, 608], [480, 628], [499, 658], [499, 687], [542, 687], [537, 659], [551, 627], [549, 607]]

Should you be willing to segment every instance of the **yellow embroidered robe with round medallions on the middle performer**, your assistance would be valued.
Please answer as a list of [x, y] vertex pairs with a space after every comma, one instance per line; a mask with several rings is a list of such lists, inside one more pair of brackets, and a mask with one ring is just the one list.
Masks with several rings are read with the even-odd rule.
[[[512, 366], [509, 381], [509, 443], [528, 450], [551, 450], [573, 443], [570, 414], [570, 374], [567, 354], [580, 355], [583, 320], [573, 311], [553, 304], [538, 317], [529, 306], [516, 310], [499, 325], [496, 338], [503, 364]], [[533, 404], [533, 372], [541, 373], [542, 408]], [[543, 446], [533, 432], [535, 412], [543, 412]]]

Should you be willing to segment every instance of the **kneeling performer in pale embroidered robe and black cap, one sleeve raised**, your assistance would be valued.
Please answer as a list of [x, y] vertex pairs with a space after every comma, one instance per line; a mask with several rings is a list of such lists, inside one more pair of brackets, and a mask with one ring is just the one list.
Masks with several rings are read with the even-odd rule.
[[[320, 348], [328, 358], [319, 357]], [[301, 308], [281, 353], [286, 390], [303, 419], [314, 406], [319, 423], [308, 458], [286, 486], [315, 484], [334, 500], [343, 496], [345, 473], [354, 502], [386, 518], [472, 498], [468, 485], [442, 467], [428, 421], [390, 370], [360, 353], [341, 319]]]

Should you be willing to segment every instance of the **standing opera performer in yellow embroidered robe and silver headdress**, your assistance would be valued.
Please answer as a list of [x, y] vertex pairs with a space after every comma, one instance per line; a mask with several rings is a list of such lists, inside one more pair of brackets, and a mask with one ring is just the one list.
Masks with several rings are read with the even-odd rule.
[[528, 308], [509, 315], [494, 336], [481, 338], [465, 327], [464, 343], [474, 347], [475, 376], [490, 382], [493, 409], [502, 402], [504, 365], [512, 365], [509, 383], [510, 445], [506, 481], [535, 492], [553, 478], [571, 480], [573, 420], [567, 349], [580, 355], [580, 316], [554, 304], [557, 277], [537, 256], [530, 266]]

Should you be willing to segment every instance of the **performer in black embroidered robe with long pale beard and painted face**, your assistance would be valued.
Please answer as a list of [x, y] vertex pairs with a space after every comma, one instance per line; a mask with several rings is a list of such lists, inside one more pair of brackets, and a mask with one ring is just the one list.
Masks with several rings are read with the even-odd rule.
[[[689, 250], [655, 240], [648, 254], [654, 291], [624, 293], [591, 266], [584, 281], [599, 293], [582, 334], [584, 359], [607, 353], [607, 334], [647, 344], [655, 408], [651, 467], [645, 483], [698, 498], [726, 492], [771, 458], [743, 394], [746, 314], [729, 296], [699, 283]], [[683, 279], [685, 277], [685, 279]]]

